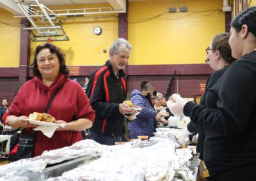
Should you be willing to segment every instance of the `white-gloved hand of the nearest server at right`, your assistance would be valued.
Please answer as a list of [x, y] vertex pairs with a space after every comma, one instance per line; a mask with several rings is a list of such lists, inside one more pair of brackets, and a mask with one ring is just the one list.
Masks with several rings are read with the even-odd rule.
[[188, 101], [181, 98], [179, 94], [172, 94], [171, 99], [167, 101], [166, 105], [175, 116], [184, 117], [183, 108]]

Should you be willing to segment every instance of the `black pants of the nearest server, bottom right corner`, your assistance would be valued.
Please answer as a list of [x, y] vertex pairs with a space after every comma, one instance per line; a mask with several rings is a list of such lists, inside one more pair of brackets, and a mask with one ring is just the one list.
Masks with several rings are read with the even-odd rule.
[[209, 181], [254, 181], [256, 180], [256, 164], [244, 165], [234, 168], [233, 170], [225, 171], [214, 177], [209, 178]]

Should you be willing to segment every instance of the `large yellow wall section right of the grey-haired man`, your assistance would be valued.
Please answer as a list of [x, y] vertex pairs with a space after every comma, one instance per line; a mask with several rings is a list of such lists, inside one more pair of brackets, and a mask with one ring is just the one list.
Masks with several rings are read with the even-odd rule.
[[[188, 8], [186, 13], [166, 13], [169, 7], [177, 7], [175, 0], [131, 1], [129, 4], [129, 41], [134, 46], [130, 64], [204, 63], [205, 48], [212, 37], [225, 32], [224, 13], [193, 13], [222, 9], [222, 0], [179, 1], [179, 6]], [[136, 20], [161, 13], [164, 14], [145, 22]]]

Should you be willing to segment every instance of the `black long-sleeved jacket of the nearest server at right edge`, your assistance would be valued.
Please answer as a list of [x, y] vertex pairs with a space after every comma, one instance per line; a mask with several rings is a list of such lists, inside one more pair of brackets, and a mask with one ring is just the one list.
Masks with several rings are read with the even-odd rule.
[[[209, 108], [192, 102], [184, 106], [184, 114], [205, 129], [204, 161], [210, 175], [226, 173], [239, 166], [253, 170], [256, 164], [256, 51], [233, 62], [210, 90], [211, 94], [205, 98]], [[256, 176], [255, 171], [252, 174]]]

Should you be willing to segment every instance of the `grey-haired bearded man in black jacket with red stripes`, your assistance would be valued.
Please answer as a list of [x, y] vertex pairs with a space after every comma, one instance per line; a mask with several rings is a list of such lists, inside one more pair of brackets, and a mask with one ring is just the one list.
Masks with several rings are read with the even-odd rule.
[[109, 48], [106, 64], [94, 71], [86, 89], [95, 121], [91, 138], [104, 145], [114, 145], [124, 127], [124, 115], [134, 111], [126, 105], [127, 80], [123, 71], [132, 47], [124, 38], [118, 38]]

